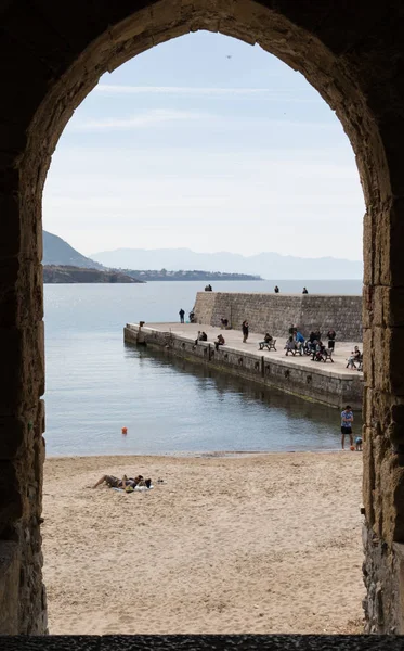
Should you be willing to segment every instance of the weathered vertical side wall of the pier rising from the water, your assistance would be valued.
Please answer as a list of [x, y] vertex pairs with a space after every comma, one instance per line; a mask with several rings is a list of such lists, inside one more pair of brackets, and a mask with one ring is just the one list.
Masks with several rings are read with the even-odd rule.
[[179, 336], [172, 332], [143, 327], [139, 332], [135, 323], [127, 323], [125, 341], [146, 343], [162, 348], [167, 355], [184, 357], [191, 361], [209, 363], [237, 378], [245, 378], [261, 385], [310, 398], [330, 407], [340, 408], [349, 403], [354, 409], [362, 407], [362, 380], [359, 375], [329, 373], [327, 369], [288, 362], [287, 359], [269, 358], [257, 353], [242, 353], [230, 346], [214, 349], [214, 344]]

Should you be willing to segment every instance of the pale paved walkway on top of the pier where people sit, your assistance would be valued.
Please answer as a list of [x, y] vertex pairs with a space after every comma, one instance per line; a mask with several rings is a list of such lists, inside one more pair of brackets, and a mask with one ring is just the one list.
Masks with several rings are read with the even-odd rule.
[[315, 362], [312, 361], [311, 357], [308, 355], [292, 355], [285, 356], [285, 339], [277, 339], [276, 342], [276, 352], [275, 350], [260, 350], [258, 352], [258, 342], [262, 341], [263, 335], [251, 332], [249, 334], [247, 343], [243, 343], [243, 334], [239, 330], [222, 330], [221, 328], [213, 328], [212, 326], [200, 326], [199, 323], [145, 323], [145, 328], [152, 328], [153, 330], [159, 330], [162, 332], [171, 331], [173, 334], [179, 336], [185, 336], [190, 339], [196, 339], [198, 330], [204, 330], [208, 335], [208, 342], [214, 342], [219, 332], [221, 332], [224, 336], [226, 346], [242, 352], [248, 353], [257, 353], [259, 355], [264, 355], [268, 358], [277, 358], [283, 360], [288, 360], [290, 365], [303, 365], [304, 367], [312, 367], [315, 365], [317, 371], [325, 370], [329, 373], [338, 373], [338, 374], [363, 374], [360, 371], [347, 369], [347, 359], [353, 350], [353, 346], [357, 345], [360, 350], [362, 352], [363, 346], [360, 342], [336, 342], [335, 353], [334, 353], [334, 363], [327, 361]]

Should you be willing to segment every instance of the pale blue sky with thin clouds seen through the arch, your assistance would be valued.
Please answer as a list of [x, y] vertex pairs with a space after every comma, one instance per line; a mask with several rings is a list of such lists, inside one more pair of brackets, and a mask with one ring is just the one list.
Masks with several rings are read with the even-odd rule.
[[43, 228], [120, 247], [362, 259], [364, 199], [335, 113], [259, 46], [198, 31], [106, 73], [52, 158]]

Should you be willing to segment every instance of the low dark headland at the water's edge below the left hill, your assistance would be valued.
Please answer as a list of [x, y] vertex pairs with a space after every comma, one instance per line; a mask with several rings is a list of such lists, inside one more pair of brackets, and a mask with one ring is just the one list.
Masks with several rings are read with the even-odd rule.
[[43, 282], [45, 283], [139, 283], [143, 282], [136, 278], [131, 278], [127, 273], [120, 271], [109, 271], [103, 269], [84, 269], [80, 267], [70, 266], [56, 266], [56, 265], [44, 265], [43, 266]]

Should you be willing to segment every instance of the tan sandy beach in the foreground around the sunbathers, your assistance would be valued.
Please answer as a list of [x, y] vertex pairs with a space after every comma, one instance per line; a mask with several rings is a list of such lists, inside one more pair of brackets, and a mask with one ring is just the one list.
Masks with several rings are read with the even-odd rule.
[[351, 451], [47, 460], [50, 631], [361, 633], [361, 475]]

